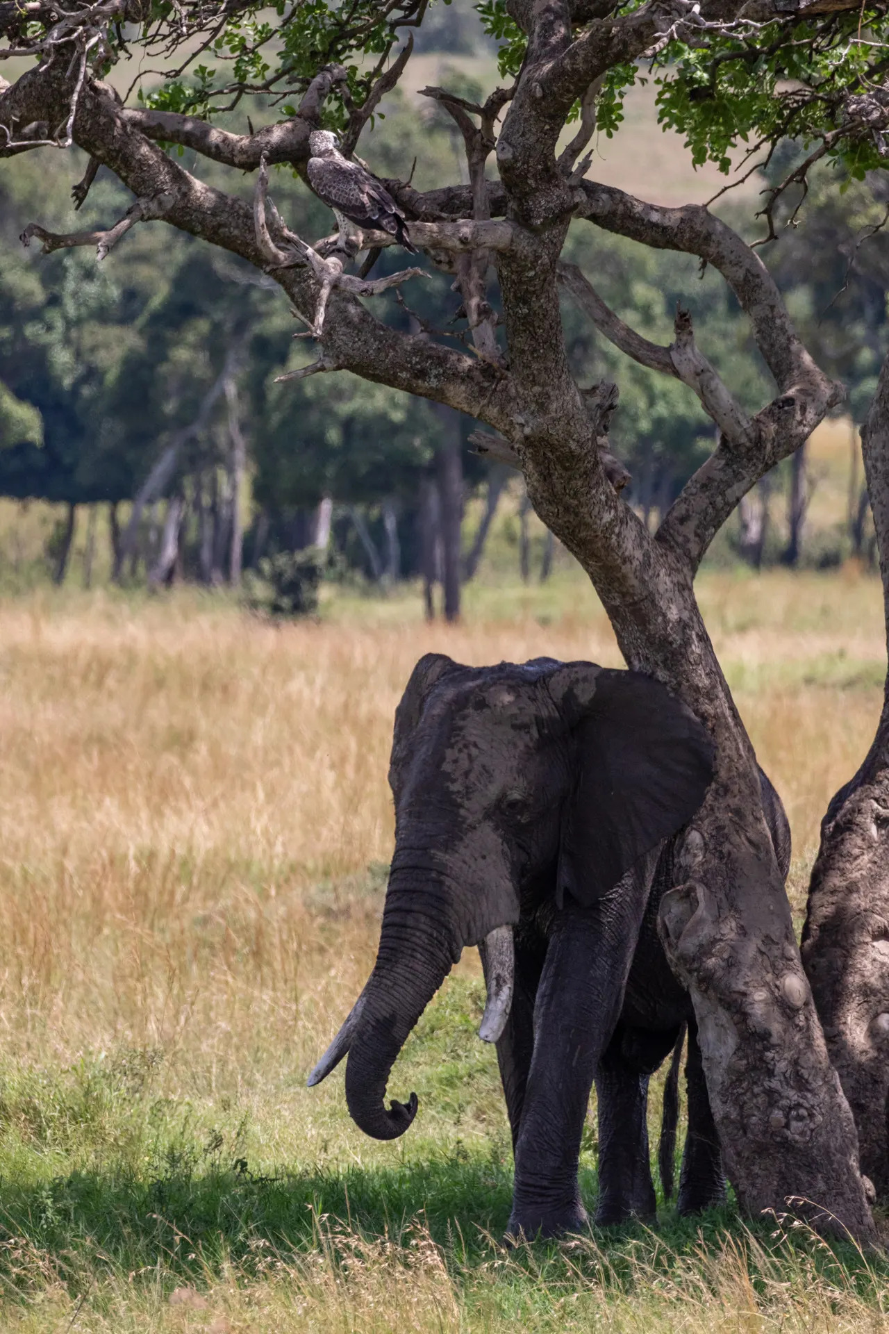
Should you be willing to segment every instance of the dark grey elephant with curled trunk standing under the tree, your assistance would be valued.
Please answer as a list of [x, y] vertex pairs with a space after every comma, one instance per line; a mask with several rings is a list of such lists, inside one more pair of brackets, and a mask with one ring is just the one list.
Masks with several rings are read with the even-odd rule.
[[[486, 984], [478, 1031], [497, 1047], [513, 1139], [508, 1235], [586, 1225], [578, 1158], [593, 1081], [596, 1222], [654, 1213], [648, 1081], [674, 1049], [674, 1093], [685, 1025], [678, 1207], [721, 1199], [693, 1010], [657, 934], [681, 831], [712, 774], [701, 723], [641, 672], [424, 656], [396, 710], [396, 836], [376, 962], [309, 1086], [348, 1054], [356, 1125], [377, 1139], [404, 1134], [417, 1097], [387, 1107], [389, 1074], [462, 948], [476, 944]], [[786, 818], [765, 775], [762, 792], [778, 859], [789, 863]]]

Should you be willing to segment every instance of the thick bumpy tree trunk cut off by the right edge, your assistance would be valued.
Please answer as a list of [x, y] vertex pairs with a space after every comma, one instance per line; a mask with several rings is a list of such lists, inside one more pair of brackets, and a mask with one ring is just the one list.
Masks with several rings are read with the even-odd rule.
[[[889, 358], [861, 432], [889, 635]], [[889, 643], [889, 639], [888, 639]], [[889, 676], [877, 734], [821, 824], [802, 932], [828, 1050], [858, 1129], [861, 1170], [889, 1195]]]

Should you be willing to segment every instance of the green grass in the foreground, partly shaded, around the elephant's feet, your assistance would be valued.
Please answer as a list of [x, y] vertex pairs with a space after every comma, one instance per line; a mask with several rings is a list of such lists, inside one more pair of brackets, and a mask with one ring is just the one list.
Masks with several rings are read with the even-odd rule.
[[[780, 1319], [814, 1290], [837, 1321], [852, 1305], [882, 1327], [889, 1281], [882, 1258], [829, 1247], [805, 1229], [788, 1233], [774, 1219], [744, 1225], [732, 1206], [680, 1219], [661, 1202], [653, 1229], [592, 1230], [561, 1245], [504, 1250], [510, 1151], [496, 1067], [476, 1037], [481, 1007], [476, 978], [445, 986], [393, 1077], [395, 1089], [420, 1094], [419, 1121], [367, 1161], [355, 1147], [353, 1161], [340, 1153], [324, 1161], [324, 1142], [320, 1155], [295, 1143], [285, 1158], [269, 1151], [276, 1089], [292, 1091], [295, 1082], [284, 1053], [269, 1069], [267, 1051], [263, 1070], [251, 1069], [248, 1057], [240, 1095], [228, 1083], [233, 1067], [221, 1081], [225, 1091], [213, 1091], [209, 1070], [191, 1062], [177, 1070], [175, 1055], [156, 1049], [84, 1054], [64, 1069], [4, 1069], [7, 1327], [53, 1327], [43, 1323], [47, 1303], [53, 1319], [76, 1314], [81, 1329], [129, 1327], [133, 1319], [133, 1327], [139, 1321], [177, 1327], [180, 1307], [203, 1321], [221, 1301], [237, 1314], [261, 1291], [267, 1303], [275, 1293], [268, 1327], [280, 1321], [288, 1329], [396, 1329], [405, 1293], [419, 1299], [435, 1279], [432, 1305], [440, 1307], [446, 1294], [453, 1307], [444, 1311], [443, 1329], [636, 1329], [660, 1321], [672, 1329], [685, 1327], [670, 1323], [684, 1305], [685, 1317], [697, 1311], [696, 1321], [706, 1294], [718, 1306], [729, 1271], [749, 1275], [757, 1321], [765, 1322], [733, 1327], [782, 1329]], [[171, 1094], [177, 1082], [189, 1083], [191, 1094]], [[331, 1085], [321, 1119], [331, 1123], [332, 1141], [345, 1137], [355, 1146], [341, 1075]], [[300, 1099], [309, 1098], [300, 1090]], [[590, 1127], [581, 1174], [590, 1209], [594, 1169]], [[401, 1293], [391, 1310], [368, 1307], [368, 1287], [377, 1285], [384, 1294]], [[339, 1314], [331, 1307], [337, 1290]], [[299, 1293], [321, 1323], [301, 1319], [293, 1306]], [[785, 1309], [776, 1306], [781, 1293]], [[408, 1327], [435, 1327], [428, 1317], [424, 1307], [420, 1323]], [[227, 1321], [219, 1327], [240, 1327]]]

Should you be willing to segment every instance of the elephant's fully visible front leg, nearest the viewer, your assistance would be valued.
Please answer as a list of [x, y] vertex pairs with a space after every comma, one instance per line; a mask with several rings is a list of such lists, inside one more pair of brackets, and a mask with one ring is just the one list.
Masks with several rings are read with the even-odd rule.
[[556, 916], [534, 1006], [510, 1235], [553, 1237], [586, 1223], [580, 1141], [600, 1057], [621, 1011], [644, 902], [622, 880], [592, 908], [565, 907]]

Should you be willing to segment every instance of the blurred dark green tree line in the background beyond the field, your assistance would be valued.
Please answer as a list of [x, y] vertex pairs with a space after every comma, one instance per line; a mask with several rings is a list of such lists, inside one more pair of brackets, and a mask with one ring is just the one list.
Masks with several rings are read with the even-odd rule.
[[[424, 28], [425, 45], [462, 52], [469, 39], [461, 11], [436, 13], [441, 31]], [[457, 69], [443, 81], [464, 96], [480, 92]], [[400, 95], [389, 99], [364, 151], [381, 176], [407, 175], [421, 161], [419, 176], [429, 180], [417, 179], [420, 188], [436, 176], [449, 179], [461, 163], [452, 123], [433, 103], [417, 115]], [[793, 151], [789, 145], [788, 155]], [[101, 224], [127, 207], [121, 188], [100, 176], [72, 223], [72, 161], [59, 155], [55, 163], [48, 168], [24, 156], [0, 177], [0, 495], [67, 507], [51, 542], [53, 578], [65, 576], [84, 510], [92, 563], [96, 507], [107, 506], [119, 580], [237, 584], [245, 570], [261, 571], [273, 586], [272, 610], [299, 611], [311, 606], [323, 567], [381, 586], [419, 575], [428, 614], [441, 607], [456, 616], [460, 586], [478, 568], [510, 475], [470, 451], [474, 423], [345, 374], [281, 380], [309, 356], [293, 339], [301, 325], [277, 288], [235, 257], [161, 225], [136, 228], [101, 264], [89, 251], [41, 256], [21, 248], [16, 237], [35, 216], [64, 231]], [[213, 164], [203, 169], [212, 181]], [[838, 196], [826, 188], [829, 169], [813, 176], [798, 225], [764, 257], [816, 358], [850, 387], [857, 422], [885, 344], [889, 184], [853, 181]], [[251, 191], [245, 177], [244, 192]], [[272, 193], [300, 235], [332, 228], [329, 212], [288, 171], [277, 171]], [[609, 305], [658, 343], [672, 340], [680, 299], [690, 304], [700, 346], [742, 406], [753, 412], [769, 396], [768, 372], [718, 275], [698, 275], [685, 256], [589, 227], [572, 232], [565, 259], [594, 276]], [[387, 252], [377, 271], [397, 265], [399, 256]], [[460, 338], [465, 320], [457, 300], [448, 277], [433, 271], [404, 289], [404, 303], [392, 297], [387, 320], [431, 338]], [[706, 456], [712, 423], [685, 386], [624, 359], [568, 297], [564, 317], [581, 383], [620, 384], [612, 444], [632, 474], [630, 500], [648, 522]], [[804, 451], [778, 474], [740, 507], [733, 540], [753, 564], [800, 560], [813, 484]], [[862, 480], [850, 479], [849, 495], [848, 544], [857, 554], [868, 542]], [[781, 550], [769, 547], [778, 492], [789, 534]], [[464, 532], [473, 494], [484, 503], [473, 531]], [[517, 547], [530, 578], [525, 500]], [[540, 576], [552, 559], [548, 538]]]

